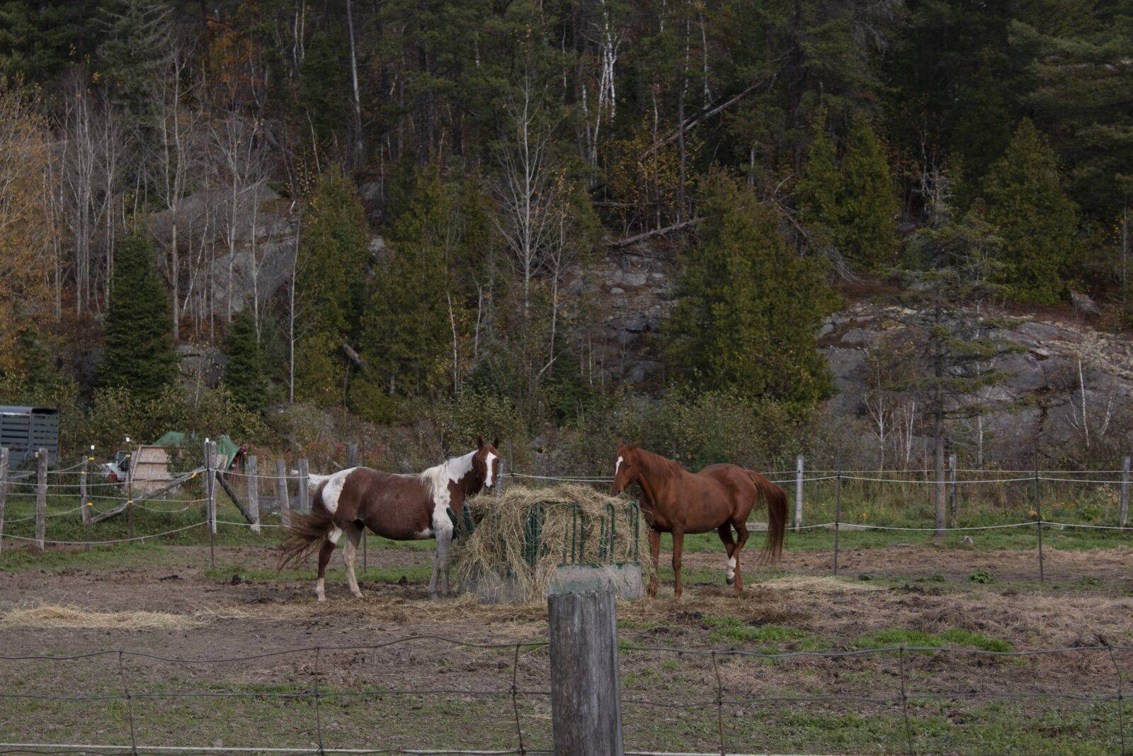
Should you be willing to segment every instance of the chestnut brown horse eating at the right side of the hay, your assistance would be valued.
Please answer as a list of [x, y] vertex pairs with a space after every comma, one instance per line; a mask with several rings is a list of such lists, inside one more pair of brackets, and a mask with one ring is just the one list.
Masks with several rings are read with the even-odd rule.
[[[617, 442], [614, 485], [617, 494], [637, 483], [641, 486], [641, 512], [649, 524], [649, 552], [654, 566], [661, 551], [661, 534], [673, 534], [674, 598], [681, 597], [681, 550], [685, 533], [716, 530], [727, 549], [729, 585], [743, 591], [740, 550], [748, 542], [748, 515], [759, 499], [767, 506], [767, 541], [761, 562], [777, 561], [786, 532], [786, 492], [759, 473], [735, 465], [709, 465], [689, 473], [672, 459], [641, 449], [641, 442]], [[735, 528], [736, 537], [732, 537]], [[649, 579], [649, 597], [657, 595], [657, 571]]]

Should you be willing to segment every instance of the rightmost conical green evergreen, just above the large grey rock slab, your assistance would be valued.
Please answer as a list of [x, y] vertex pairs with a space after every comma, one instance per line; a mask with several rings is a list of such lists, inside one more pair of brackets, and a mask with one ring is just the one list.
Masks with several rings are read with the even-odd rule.
[[988, 221], [1004, 243], [1003, 282], [1019, 299], [1050, 304], [1063, 295], [1075, 209], [1063, 192], [1046, 138], [1024, 118], [983, 180]]

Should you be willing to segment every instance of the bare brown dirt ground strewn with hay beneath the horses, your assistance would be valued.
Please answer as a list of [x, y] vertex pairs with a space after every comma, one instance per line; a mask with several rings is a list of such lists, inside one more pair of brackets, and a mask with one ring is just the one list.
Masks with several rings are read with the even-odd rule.
[[[619, 605], [622, 643], [654, 648], [623, 651], [622, 681], [628, 698], [714, 698], [716, 678], [709, 663], [705, 657], [676, 654], [676, 648], [851, 651], [894, 629], [925, 634], [963, 630], [1003, 642], [1014, 651], [1133, 645], [1133, 551], [1128, 549], [1050, 550], [1045, 564], [1048, 585], [1041, 588], [1036, 579], [1034, 552], [905, 546], [847, 550], [840, 553], [842, 575], [849, 578], [843, 580], [820, 577], [829, 574], [832, 557], [830, 552], [786, 553], [774, 572], [749, 570], [744, 595], [733, 598], [723, 581], [723, 554], [687, 553], [683, 563], [690, 577], [682, 601], [672, 600], [671, 578], [663, 572], [655, 601]], [[216, 552], [218, 566], [246, 570], [273, 567], [274, 560], [273, 551], [259, 547]], [[412, 567], [431, 561], [432, 554], [425, 551], [370, 549], [368, 553], [370, 567]], [[670, 555], [663, 553], [662, 566], [668, 561]], [[332, 689], [380, 685], [403, 690], [508, 690], [516, 660], [514, 681], [520, 689], [545, 691], [548, 687], [545, 649], [485, 649], [442, 640], [516, 644], [545, 639], [546, 609], [540, 603], [489, 606], [470, 596], [429, 601], [426, 586], [410, 580], [404, 585], [363, 580], [364, 597], [356, 600], [337, 577], [327, 581], [327, 602], [320, 604], [310, 580], [235, 580], [227, 572], [210, 577], [206, 566], [206, 549], [168, 547], [156, 564], [0, 574], [0, 653], [63, 655], [129, 648], [167, 657], [216, 659], [308, 649], [222, 668], [130, 657], [129, 679], [143, 689], [171, 685], [170, 680], [191, 686], [218, 681], [245, 687], [269, 682], [306, 686], [314, 676]], [[341, 566], [341, 558], [337, 557], [333, 566]], [[989, 571], [995, 581], [971, 583], [969, 576], [978, 569]], [[705, 570], [714, 570], [718, 577], [709, 581]], [[859, 579], [866, 574], [870, 579]], [[134, 629], [136, 618], [145, 619], [150, 627]], [[776, 629], [778, 635], [763, 636], [761, 628]], [[407, 637], [416, 638], [399, 642]], [[387, 643], [392, 645], [380, 647]], [[313, 646], [360, 648], [324, 651], [313, 660]], [[23, 666], [0, 663], [0, 689], [58, 693], [75, 685], [113, 689], [119, 680], [111, 662], [95, 657], [42, 677], [45, 668], [39, 662]], [[801, 657], [775, 664], [729, 660], [719, 672], [729, 696], [736, 698], [791, 690], [835, 696], [862, 695], [864, 690], [891, 696], [896, 685], [895, 664], [891, 655]], [[910, 659], [909, 665], [913, 690], [1072, 690], [1093, 695], [1114, 689], [1115, 665], [1125, 680], [1133, 676], [1133, 652], [1116, 652], [1113, 657], [1082, 652], [1028, 657], [1021, 663], [920, 655]], [[458, 698], [476, 705], [472, 696]], [[545, 729], [545, 700], [537, 695], [533, 700], [523, 716], [530, 717], [536, 729]], [[963, 721], [964, 715], [961, 712], [956, 717]], [[53, 717], [66, 720], [58, 714]], [[638, 721], [631, 712], [627, 717], [628, 722]], [[170, 738], [184, 734], [178, 729], [184, 722], [155, 722], [151, 727], [168, 727]], [[674, 728], [683, 727], [675, 714], [672, 722]], [[16, 722], [0, 714], [0, 741], [32, 737], [27, 727], [26, 717]], [[211, 737], [207, 730], [197, 734], [198, 740]], [[690, 730], [688, 740], [676, 749], [710, 748], [710, 734]], [[39, 736], [51, 738], [48, 732]], [[56, 737], [77, 736], [62, 730]], [[103, 736], [103, 740], [109, 737]], [[484, 736], [476, 745], [491, 739]], [[238, 738], [229, 733], [222, 740], [232, 745]], [[647, 742], [658, 748], [666, 745]], [[402, 747], [415, 745], [420, 745], [419, 739], [407, 740]], [[884, 753], [885, 748], [878, 748], [859, 753]]]

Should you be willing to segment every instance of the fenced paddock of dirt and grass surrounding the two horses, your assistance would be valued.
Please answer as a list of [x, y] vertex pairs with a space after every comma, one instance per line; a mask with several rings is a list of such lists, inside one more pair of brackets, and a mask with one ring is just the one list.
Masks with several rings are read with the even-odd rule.
[[[138, 502], [66, 461], [43, 476], [60, 487], [42, 504], [37, 469], [6, 478], [0, 750], [554, 747], [542, 598], [429, 601], [432, 542], [370, 536], [364, 598], [335, 555], [316, 604], [313, 564], [274, 570], [272, 526], [303, 508], [290, 469], [261, 461], [249, 491], [247, 468], [215, 486], [194, 468]], [[940, 538], [923, 474], [842, 473], [902, 479], [806, 474], [834, 477], [803, 482], [782, 562], [749, 561], [739, 598], [709, 534], [685, 537], [674, 602], [663, 541], [657, 598], [617, 604], [625, 753], [1128, 753], [1133, 534], [1119, 523], [1121, 469], [981, 473], [955, 486], [955, 528]], [[290, 479], [276, 491], [279, 476]], [[768, 477], [793, 506], [795, 472]], [[1021, 479], [990, 482], [1007, 477]]]

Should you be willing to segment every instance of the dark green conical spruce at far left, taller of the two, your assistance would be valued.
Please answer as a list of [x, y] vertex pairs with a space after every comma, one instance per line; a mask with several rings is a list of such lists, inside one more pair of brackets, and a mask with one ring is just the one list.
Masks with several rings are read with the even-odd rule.
[[107, 350], [100, 371], [103, 387], [156, 399], [177, 375], [173, 316], [169, 292], [154, 266], [150, 237], [135, 231], [114, 249], [114, 280], [105, 322]]

